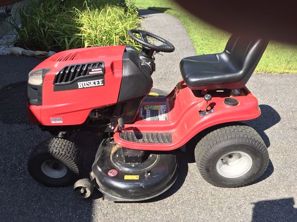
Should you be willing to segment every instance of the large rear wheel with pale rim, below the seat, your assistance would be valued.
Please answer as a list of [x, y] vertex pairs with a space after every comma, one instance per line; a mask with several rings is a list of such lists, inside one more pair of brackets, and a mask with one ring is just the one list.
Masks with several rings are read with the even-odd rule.
[[220, 187], [239, 187], [252, 183], [266, 170], [267, 148], [249, 126], [216, 129], [204, 136], [195, 148], [199, 172], [208, 183]]

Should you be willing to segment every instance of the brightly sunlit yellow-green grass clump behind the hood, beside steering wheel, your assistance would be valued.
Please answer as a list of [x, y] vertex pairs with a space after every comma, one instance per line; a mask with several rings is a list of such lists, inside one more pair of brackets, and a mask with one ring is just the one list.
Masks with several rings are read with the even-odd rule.
[[80, 29], [79, 37], [83, 40], [83, 46], [103, 45], [136, 45], [128, 36], [130, 29], [139, 25], [137, 11], [121, 7], [104, 7], [99, 10], [93, 6], [85, 10], [76, 9], [76, 22]]

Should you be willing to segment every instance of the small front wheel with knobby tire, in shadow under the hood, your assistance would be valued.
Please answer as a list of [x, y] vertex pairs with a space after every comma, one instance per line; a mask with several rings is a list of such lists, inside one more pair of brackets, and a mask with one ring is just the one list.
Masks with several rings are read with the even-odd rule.
[[65, 139], [46, 140], [32, 150], [28, 171], [47, 186], [71, 185], [79, 174], [78, 148]]

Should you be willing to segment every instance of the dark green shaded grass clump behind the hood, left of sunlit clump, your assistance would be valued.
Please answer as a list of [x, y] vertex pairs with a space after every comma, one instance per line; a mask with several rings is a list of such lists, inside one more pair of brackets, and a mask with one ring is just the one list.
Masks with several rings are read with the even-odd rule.
[[19, 8], [20, 26], [12, 27], [18, 34], [15, 44], [36, 50], [64, 50], [82, 46], [76, 35], [74, 12], [56, 0], [31, 1], [26, 9]]

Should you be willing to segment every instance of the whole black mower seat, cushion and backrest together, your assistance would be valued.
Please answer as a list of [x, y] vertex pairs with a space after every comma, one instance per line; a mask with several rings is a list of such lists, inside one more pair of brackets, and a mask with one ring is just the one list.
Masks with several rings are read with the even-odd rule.
[[181, 74], [191, 89], [241, 89], [267, 44], [266, 39], [232, 35], [222, 53], [182, 59]]

